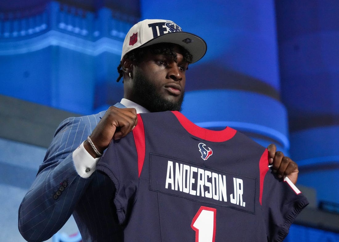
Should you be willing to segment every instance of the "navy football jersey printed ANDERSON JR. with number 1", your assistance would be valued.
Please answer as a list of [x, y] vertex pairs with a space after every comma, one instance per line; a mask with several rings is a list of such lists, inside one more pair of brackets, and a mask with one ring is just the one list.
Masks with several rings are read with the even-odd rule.
[[268, 151], [179, 112], [138, 114], [97, 165], [114, 183], [124, 242], [282, 241], [308, 204], [268, 167]]

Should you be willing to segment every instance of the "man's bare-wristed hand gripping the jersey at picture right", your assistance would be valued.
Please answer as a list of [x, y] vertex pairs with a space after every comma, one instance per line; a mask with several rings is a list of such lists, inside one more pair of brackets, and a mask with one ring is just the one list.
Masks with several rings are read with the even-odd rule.
[[279, 178], [287, 176], [293, 184], [297, 183], [298, 179], [298, 165], [291, 158], [284, 156], [281, 151], [277, 151], [275, 144], [267, 146], [268, 162], [273, 164], [273, 172], [277, 173]]

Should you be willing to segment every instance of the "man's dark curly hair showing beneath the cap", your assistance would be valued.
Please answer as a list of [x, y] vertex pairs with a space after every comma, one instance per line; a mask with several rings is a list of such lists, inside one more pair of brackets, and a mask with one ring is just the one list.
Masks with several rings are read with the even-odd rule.
[[[148, 49], [153, 54], [164, 54], [166, 56], [172, 56], [173, 60], [177, 62], [177, 54], [174, 52], [174, 44], [171, 43], [159, 43], [143, 48], [137, 48], [126, 53], [124, 57], [131, 60], [134, 63], [140, 63], [141, 59], [143, 58]], [[181, 51], [183, 53], [182, 55], [184, 61], [187, 62], [188, 64], [192, 63], [193, 58], [192, 55], [188, 51], [186, 51], [186, 49], [183, 47], [181, 47]], [[119, 77], [117, 78], [117, 82], [119, 82], [123, 76], [123, 70], [121, 69], [121, 67], [122, 63], [120, 62], [118, 66]]]

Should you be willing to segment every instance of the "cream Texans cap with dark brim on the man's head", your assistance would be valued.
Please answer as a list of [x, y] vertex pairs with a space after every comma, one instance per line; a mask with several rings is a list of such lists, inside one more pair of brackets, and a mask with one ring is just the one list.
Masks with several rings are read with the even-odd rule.
[[181, 45], [192, 56], [192, 63], [200, 60], [206, 53], [205, 41], [191, 33], [182, 32], [181, 28], [170, 20], [145, 19], [129, 29], [122, 45], [121, 60], [133, 49], [157, 43]]

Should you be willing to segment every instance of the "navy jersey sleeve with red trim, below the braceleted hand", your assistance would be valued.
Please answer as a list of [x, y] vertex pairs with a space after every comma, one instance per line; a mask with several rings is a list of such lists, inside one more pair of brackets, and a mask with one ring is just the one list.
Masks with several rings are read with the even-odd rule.
[[[97, 164], [97, 170], [106, 174], [116, 188], [113, 202], [119, 224], [126, 222], [126, 218], [132, 209], [133, 201], [138, 193], [139, 170], [142, 169], [139, 163], [141, 159], [143, 163], [145, 157], [144, 142], [143, 146], [140, 147], [139, 145], [140, 140], [144, 140], [144, 138], [139, 137], [140, 133], [143, 134], [139, 132], [143, 130], [142, 121], [140, 122], [139, 119], [141, 119], [140, 115], [138, 115], [138, 125], [133, 132], [122, 139], [112, 140]], [[140, 154], [140, 150], [143, 150], [143, 156]]]

